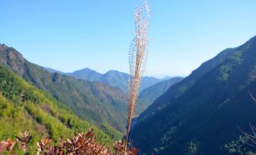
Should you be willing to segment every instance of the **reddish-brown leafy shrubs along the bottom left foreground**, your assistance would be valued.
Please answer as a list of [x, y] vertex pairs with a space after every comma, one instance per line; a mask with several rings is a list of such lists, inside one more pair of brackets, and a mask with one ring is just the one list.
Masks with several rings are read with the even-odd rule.
[[[8, 141], [0, 142], [0, 153], [7, 152], [9, 154], [17, 154], [17, 150], [22, 150], [25, 153], [29, 153], [27, 144], [32, 139], [32, 135], [29, 132], [24, 132], [21, 137], [16, 137], [16, 141], [8, 139]], [[19, 145], [19, 146], [18, 146]], [[114, 150], [116, 155], [135, 155], [139, 152], [137, 148], [128, 147], [125, 150], [125, 144], [122, 141], [117, 141], [114, 144]], [[86, 133], [76, 133], [73, 138], [66, 139], [65, 141], [60, 138], [60, 141], [54, 143], [50, 138], [43, 135], [41, 141], [37, 142], [36, 155], [78, 155], [78, 154], [90, 154], [90, 155], [111, 155], [111, 151], [104, 144], [97, 142], [93, 129], [89, 129]]]

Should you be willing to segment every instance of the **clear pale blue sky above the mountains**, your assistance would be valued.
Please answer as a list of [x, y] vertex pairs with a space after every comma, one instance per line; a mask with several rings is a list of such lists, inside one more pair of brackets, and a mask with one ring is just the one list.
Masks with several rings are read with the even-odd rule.
[[[0, 43], [30, 62], [128, 72], [134, 6], [142, 0], [1, 0]], [[187, 75], [256, 35], [255, 0], [149, 0], [148, 75]]]

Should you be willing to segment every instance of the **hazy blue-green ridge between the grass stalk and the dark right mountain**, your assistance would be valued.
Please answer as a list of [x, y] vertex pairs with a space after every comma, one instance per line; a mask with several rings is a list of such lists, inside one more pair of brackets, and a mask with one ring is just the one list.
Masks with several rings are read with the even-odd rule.
[[183, 78], [174, 77], [168, 80], [159, 82], [151, 87], [148, 87], [140, 92], [137, 104], [137, 114], [140, 114], [149, 107], [159, 96], [162, 96], [172, 85], [177, 84]]

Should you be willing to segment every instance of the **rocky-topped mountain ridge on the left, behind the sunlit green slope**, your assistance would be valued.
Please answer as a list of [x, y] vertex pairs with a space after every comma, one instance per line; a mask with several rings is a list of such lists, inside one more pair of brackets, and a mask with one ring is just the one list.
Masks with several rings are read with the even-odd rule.
[[45, 71], [45, 68], [28, 62], [17, 50], [5, 44], [0, 45], [0, 65], [50, 93], [82, 119], [100, 127], [105, 124], [119, 131], [125, 130], [127, 97], [119, 88]]

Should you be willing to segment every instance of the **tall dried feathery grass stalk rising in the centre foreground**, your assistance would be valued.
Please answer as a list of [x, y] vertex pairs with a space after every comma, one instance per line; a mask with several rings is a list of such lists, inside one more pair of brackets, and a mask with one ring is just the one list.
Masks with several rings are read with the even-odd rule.
[[128, 126], [125, 139], [125, 149], [131, 128], [131, 119], [140, 90], [141, 78], [145, 72], [148, 52], [148, 31], [150, 27], [150, 6], [144, 0], [144, 7], [137, 7], [134, 13], [135, 30], [129, 51], [130, 80], [128, 81]]

